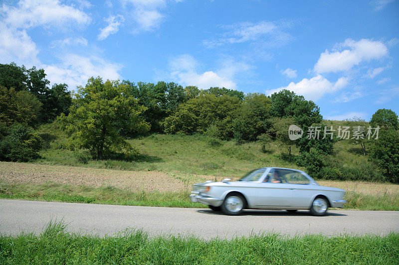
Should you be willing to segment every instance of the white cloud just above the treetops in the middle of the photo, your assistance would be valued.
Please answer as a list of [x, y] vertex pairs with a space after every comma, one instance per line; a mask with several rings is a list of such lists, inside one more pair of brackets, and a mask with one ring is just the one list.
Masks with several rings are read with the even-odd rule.
[[185, 86], [198, 86], [207, 89], [210, 87], [236, 88], [234, 77], [241, 72], [248, 71], [250, 66], [235, 62], [228, 58], [220, 62], [219, 69], [201, 72], [200, 64], [191, 55], [180, 55], [169, 62], [168, 76], [173, 81]]

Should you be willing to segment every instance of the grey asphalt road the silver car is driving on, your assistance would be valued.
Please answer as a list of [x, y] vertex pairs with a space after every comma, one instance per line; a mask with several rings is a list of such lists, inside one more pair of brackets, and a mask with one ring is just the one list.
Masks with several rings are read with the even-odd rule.
[[262, 232], [286, 235], [378, 234], [399, 232], [399, 211], [329, 211], [324, 217], [308, 211], [246, 210], [226, 216], [210, 209], [120, 206], [0, 199], [0, 233], [40, 233], [52, 220], [63, 219], [71, 232], [114, 235], [127, 228], [154, 235], [232, 238]]

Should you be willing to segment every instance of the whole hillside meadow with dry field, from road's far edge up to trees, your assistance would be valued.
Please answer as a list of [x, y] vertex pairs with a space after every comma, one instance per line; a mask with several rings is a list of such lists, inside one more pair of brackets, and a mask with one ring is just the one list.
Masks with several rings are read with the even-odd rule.
[[[345, 122], [331, 122], [334, 126]], [[214, 142], [205, 135], [151, 134], [128, 142], [138, 150], [134, 160], [93, 160], [88, 152], [63, 148], [66, 135], [56, 124], [38, 129], [46, 148], [32, 163], [0, 162], [0, 197], [48, 201], [204, 207], [189, 200], [191, 185], [205, 180], [238, 179], [251, 169], [296, 166], [299, 155], [277, 141], [261, 151], [259, 142], [237, 145]], [[349, 141], [334, 146], [343, 167], [372, 170], [367, 157]], [[365, 172], [364, 174], [368, 174]], [[399, 210], [399, 185], [387, 182], [318, 179], [321, 185], [344, 188], [347, 209]]]

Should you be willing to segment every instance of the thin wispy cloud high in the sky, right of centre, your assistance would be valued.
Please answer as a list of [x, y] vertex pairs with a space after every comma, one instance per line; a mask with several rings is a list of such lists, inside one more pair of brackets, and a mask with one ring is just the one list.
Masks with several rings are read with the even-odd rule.
[[241, 22], [223, 26], [227, 29], [220, 38], [204, 40], [203, 44], [209, 48], [224, 44], [256, 42], [268, 43], [269, 46], [281, 46], [292, 39], [292, 36], [283, 31], [288, 23], [276, 24], [270, 21], [257, 23]]

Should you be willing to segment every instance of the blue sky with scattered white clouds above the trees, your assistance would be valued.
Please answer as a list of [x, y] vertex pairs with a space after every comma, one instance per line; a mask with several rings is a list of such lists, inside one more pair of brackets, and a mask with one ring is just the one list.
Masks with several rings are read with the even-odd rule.
[[314, 100], [324, 118], [399, 113], [399, 0], [20, 0], [0, 4], [0, 63]]

